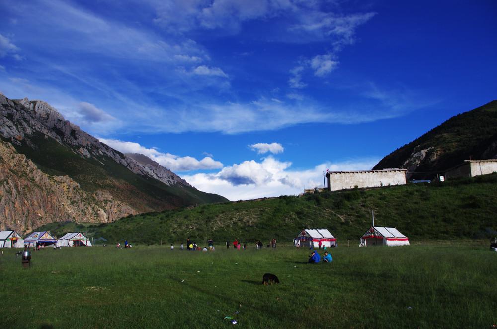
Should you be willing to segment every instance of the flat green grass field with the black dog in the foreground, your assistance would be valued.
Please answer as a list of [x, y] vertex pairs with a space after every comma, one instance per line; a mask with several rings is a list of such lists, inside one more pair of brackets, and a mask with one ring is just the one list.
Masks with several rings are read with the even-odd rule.
[[[176, 246], [178, 248], [178, 246]], [[485, 241], [309, 251], [167, 246], [2, 249], [0, 328], [491, 328], [497, 253]], [[322, 252], [320, 252], [322, 254]], [[263, 286], [276, 274], [279, 285]], [[232, 319], [229, 319], [229, 318]], [[236, 320], [235, 325], [232, 320]]]

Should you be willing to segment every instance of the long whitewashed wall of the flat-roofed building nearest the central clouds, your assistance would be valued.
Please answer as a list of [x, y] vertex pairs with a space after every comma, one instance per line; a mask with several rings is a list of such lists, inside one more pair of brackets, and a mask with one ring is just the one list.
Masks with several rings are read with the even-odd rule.
[[406, 169], [385, 169], [370, 171], [331, 171], [327, 173], [328, 190], [364, 187], [380, 187], [389, 185], [405, 185]]

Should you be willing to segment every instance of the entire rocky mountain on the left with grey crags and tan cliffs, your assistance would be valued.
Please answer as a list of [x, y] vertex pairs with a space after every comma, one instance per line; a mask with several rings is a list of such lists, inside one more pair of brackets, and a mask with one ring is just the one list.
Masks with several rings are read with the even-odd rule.
[[105, 223], [227, 201], [143, 155], [100, 143], [43, 101], [0, 93], [0, 137], [1, 230], [25, 233], [65, 220]]

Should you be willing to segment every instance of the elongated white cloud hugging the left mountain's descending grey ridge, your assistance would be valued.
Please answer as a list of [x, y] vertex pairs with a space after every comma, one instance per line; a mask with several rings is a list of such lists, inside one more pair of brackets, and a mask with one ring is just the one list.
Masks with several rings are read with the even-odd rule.
[[197, 160], [193, 157], [179, 157], [170, 153], [162, 153], [155, 148], [148, 149], [135, 142], [126, 142], [115, 139], [98, 138], [100, 142], [107, 144], [113, 149], [122, 153], [141, 153], [150, 159], [157, 162], [159, 165], [175, 172], [184, 172], [199, 169], [219, 169], [223, 164], [215, 161], [211, 157], [204, 157], [202, 160]]

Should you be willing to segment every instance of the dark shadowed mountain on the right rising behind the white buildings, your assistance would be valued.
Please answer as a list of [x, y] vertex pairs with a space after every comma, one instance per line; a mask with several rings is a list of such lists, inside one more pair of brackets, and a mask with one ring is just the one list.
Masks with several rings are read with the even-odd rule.
[[497, 100], [450, 118], [390, 153], [373, 170], [404, 168], [407, 178], [433, 179], [470, 159], [497, 159]]

